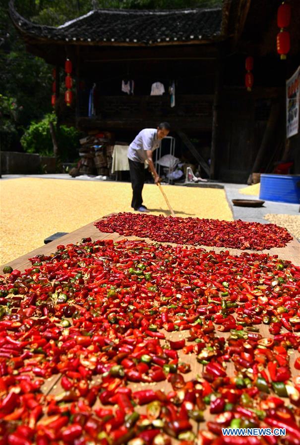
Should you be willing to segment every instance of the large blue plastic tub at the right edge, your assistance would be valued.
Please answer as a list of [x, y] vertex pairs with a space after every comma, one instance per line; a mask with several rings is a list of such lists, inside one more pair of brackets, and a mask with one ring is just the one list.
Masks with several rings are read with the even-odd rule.
[[260, 199], [300, 203], [300, 175], [260, 175]]

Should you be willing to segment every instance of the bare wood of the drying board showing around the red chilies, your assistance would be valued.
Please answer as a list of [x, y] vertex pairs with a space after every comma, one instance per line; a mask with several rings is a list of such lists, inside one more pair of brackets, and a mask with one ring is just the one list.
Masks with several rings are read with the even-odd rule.
[[[97, 219], [96, 221], [99, 221], [99, 219]], [[94, 221], [94, 222], [96, 222], [96, 221]], [[145, 240], [147, 243], [153, 242], [149, 238], [124, 237], [124, 236], [120, 236], [118, 233], [111, 234], [111, 233], [100, 232], [94, 226], [94, 222], [89, 223], [86, 226], [81, 227], [80, 229], [74, 230], [73, 232], [62, 236], [61, 238], [59, 238], [51, 243], [48, 243], [43, 247], [39, 247], [39, 248], [31, 251], [30, 253], [27, 253], [26, 255], [20, 256], [19, 258], [16, 258], [15, 260], [10, 261], [6, 265], [10, 265], [14, 269], [18, 269], [21, 272], [23, 272], [24, 269], [31, 267], [31, 262], [28, 260], [28, 258], [31, 258], [37, 254], [47, 255], [47, 254], [53, 253], [56, 250], [56, 246], [59, 244], [63, 244], [63, 245], [70, 244], [70, 243], [75, 244], [76, 242], [81, 241], [82, 238], [87, 238], [87, 237], [91, 237], [92, 241], [105, 240], [105, 239], [113, 239], [114, 241], [119, 241], [119, 240], [123, 240], [123, 239], [127, 238], [128, 240]], [[171, 243], [162, 243], [162, 244], [170, 245]], [[175, 246], [175, 244], [174, 244], [174, 246]], [[229, 252], [233, 255], [240, 255], [242, 252], [253, 252], [253, 250], [231, 249], [231, 248], [227, 248], [227, 247], [209, 247], [209, 246], [197, 246], [197, 247], [202, 247], [206, 250], [214, 250], [216, 252], [219, 252], [220, 250], [229, 250]], [[295, 238], [286, 247], [281, 247], [281, 248], [274, 247], [269, 250], [262, 250], [260, 253], [269, 253], [270, 255], [278, 255], [279, 258], [282, 258], [285, 260], [290, 260], [290, 261], [292, 261], [293, 264], [300, 265], [300, 243]], [[4, 265], [1, 266], [0, 270], [2, 270], [3, 267], [4, 267]], [[259, 331], [263, 337], [272, 337], [272, 336], [270, 336], [268, 327], [266, 325], [257, 325], [257, 327], [259, 328]], [[168, 340], [172, 339], [173, 341], [179, 340], [180, 338], [185, 338], [188, 336], [188, 331], [166, 332], [166, 331], [162, 330], [162, 332], [164, 332], [166, 339], [168, 339]], [[220, 332], [220, 331], [216, 331], [216, 332]], [[230, 333], [220, 332], [220, 337], [226, 338], [229, 336], [229, 334]], [[180, 361], [189, 363], [191, 365], [191, 371], [189, 373], [183, 375], [185, 381], [188, 381], [191, 378], [196, 377], [197, 374], [201, 375], [201, 372], [203, 370], [203, 365], [201, 365], [200, 363], [197, 362], [194, 354], [185, 355], [185, 354], [183, 354], [182, 350], [179, 350], [178, 353], [179, 353]], [[294, 363], [294, 360], [299, 355], [300, 355], [299, 352], [295, 351], [295, 354], [293, 354], [293, 358], [291, 358], [291, 365]], [[294, 368], [294, 366], [291, 366], [291, 370], [292, 370], [293, 375], [297, 375], [297, 371]], [[233, 363], [228, 363], [227, 373], [229, 376], [234, 375]], [[95, 376], [95, 381], [97, 381], [97, 376]], [[139, 390], [151, 388], [154, 390], [160, 389], [160, 390], [164, 390], [164, 391], [168, 392], [169, 390], [172, 389], [171, 385], [167, 381], [163, 381], [163, 382], [159, 382], [159, 383], [150, 383], [150, 384], [148, 384], [148, 383], [139, 383], [139, 384], [129, 383], [129, 386], [132, 388], [133, 391], [139, 391]], [[60, 375], [54, 375], [54, 376], [50, 377], [49, 379], [47, 379], [44, 386], [42, 387], [42, 390], [47, 395], [60, 394], [63, 391], [61, 388], [61, 385], [60, 385]], [[288, 399], [286, 399], [286, 401], [287, 400]], [[96, 404], [99, 404], [99, 399], [97, 400]], [[138, 411], [145, 412], [144, 408], [145, 407], [143, 406], [140, 409], [138, 409]], [[206, 409], [206, 411], [204, 413], [204, 417], [205, 417], [205, 422], [207, 422], [209, 420], [213, 420], [213, 418], [215, 416], [209, 413], [209, 409]], [[205, 428], [205, 422], [201, 422], [201, 423], [197, 424], [196, 422], [192, 421], [191, 423], [193, 425], [193, 432], [195, 434], [197, 434], [198, 429]], [[176, 443], [178, 443], [178, 441], [174, 440], [173, 443], [176, 444]]]

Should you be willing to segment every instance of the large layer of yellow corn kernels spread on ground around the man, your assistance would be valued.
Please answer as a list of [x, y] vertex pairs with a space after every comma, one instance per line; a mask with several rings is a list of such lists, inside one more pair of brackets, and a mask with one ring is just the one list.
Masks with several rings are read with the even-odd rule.
[[[177, 216], [233, 220], [224, 190], [167, 185], [163, 190]], [[43, 246], [56, 232], [72, 232], [109, 213], [133, 211], [131, 193], [131, 184], [121, 182], [2, 180], [0, 264]], [[143, 199], [152, 214], [170, 215], [154, 184], [145, 184]]]

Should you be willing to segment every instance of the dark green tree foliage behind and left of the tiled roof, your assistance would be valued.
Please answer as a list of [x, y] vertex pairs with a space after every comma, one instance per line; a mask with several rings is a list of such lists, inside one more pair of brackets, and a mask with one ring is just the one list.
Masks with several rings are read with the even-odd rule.
[[[15, 0], [16, 10], [35, 23], [59, 26], [94, 8], [186, 8], [215, 7], [222, 0]], [[14, 98], [23, 108], [8, 130], [4, 149], [14, 149], [33, 120], [52, 111], [52, 66], [26, 51], [23, 41], [8, 16], [8, 0], [0, 0], [0, 93]], [[10, 128], [10, 130], [9, 130]], [[3, 148], [2, 144], [2, 148]]]

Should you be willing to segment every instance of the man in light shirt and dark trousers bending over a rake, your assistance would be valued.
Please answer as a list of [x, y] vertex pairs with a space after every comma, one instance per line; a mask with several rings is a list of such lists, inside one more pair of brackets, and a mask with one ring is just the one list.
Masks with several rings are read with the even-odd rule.
[[148, 161], [149, 168], [154, 177], [154, 184], [159, 182], [159, 176], [155, 170], [152, 152], [159, 147], [160, 141], [168, 136], [170, 124], [162, 122], [157, 129], [145, 128], [141, 130], [128, 148], [128, 161], [130, 179], [132, 186], [131, 207], [140, 212], [149, 212], [143, 205], [142, 190], [145, 183], [145, 160]]

